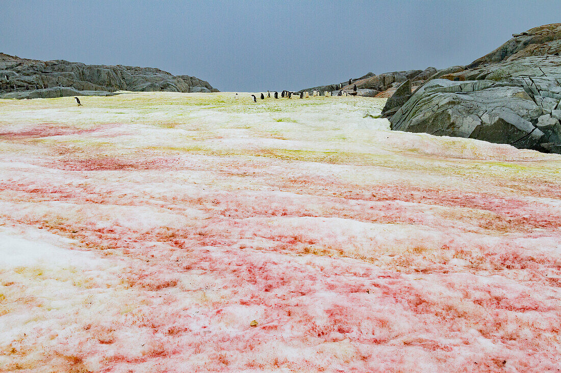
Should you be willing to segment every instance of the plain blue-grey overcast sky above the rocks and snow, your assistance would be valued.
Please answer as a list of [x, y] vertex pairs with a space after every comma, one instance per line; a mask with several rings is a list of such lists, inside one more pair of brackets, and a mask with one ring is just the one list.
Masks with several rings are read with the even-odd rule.
[[221, 91], [299, 90], [467, 64], [561, 1], [0, 0], [0, 52], [158, 67]]

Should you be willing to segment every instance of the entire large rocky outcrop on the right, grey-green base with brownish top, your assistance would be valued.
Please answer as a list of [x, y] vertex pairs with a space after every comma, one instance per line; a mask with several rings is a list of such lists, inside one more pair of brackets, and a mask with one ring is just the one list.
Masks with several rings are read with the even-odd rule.
[[561, 153], [560, 41], [561, 24], [535, 27], [466, 67], [433, 74], [401, 107], [396, 91], [384, 113], [395, 130]]

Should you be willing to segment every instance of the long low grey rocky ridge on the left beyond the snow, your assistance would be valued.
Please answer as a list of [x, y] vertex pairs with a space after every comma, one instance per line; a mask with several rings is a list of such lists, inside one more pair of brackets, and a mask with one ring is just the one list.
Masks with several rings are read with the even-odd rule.
[[[157, 68], [42, 61], [0, 53], [0, 97], [51, 97], [57, 92], [61, 95], [70, 92], [60, 88], [75, 90], [77, 93], [72, 95], [87, 95], [88, 91], [210, 92], [213, 89], [206, 81], [188, 75], [173, 76]], [[33, 94], [35, 90], [47, 91]]]

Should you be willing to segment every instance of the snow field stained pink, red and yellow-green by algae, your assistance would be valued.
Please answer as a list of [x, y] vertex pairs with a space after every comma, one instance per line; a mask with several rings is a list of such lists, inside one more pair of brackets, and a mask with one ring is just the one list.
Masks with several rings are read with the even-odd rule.
[[560, 156], [241, 97], [0, 101], [0, 371], [559, 371]]

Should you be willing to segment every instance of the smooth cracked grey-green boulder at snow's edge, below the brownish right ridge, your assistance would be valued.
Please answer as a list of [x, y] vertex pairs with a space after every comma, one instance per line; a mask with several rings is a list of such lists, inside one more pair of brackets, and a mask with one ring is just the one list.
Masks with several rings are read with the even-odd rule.
[[540, 106], [522, 87], [494, 81], [436, 79], [420, 87], [390, 122], [394, 130], [548, 151], [542, 143], [561, 144], [557, 142], [561, 127], [551, 116], [542, 118], [543, 125], [538, 125], [541, 115]]

